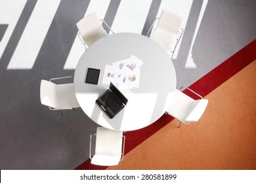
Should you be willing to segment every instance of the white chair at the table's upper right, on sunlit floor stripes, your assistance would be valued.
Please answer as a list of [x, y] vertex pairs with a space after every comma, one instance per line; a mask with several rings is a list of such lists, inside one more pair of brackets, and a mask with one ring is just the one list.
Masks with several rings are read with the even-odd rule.
[[156, 25], [156, 29], [152, 31], [150, 38], [158, 42], [167, 54], [170, 55], [171, 53], [173, 55], [184, 31], [181, 27], [182, 18], [168, 10], [162, 10], [160, 17], [156, 18], [148, 30], [147, 37], [157, 20], [158, 24]]

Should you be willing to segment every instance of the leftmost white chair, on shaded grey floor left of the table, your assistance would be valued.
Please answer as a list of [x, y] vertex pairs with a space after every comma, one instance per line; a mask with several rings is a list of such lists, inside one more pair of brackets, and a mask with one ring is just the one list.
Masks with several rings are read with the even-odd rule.
[[[64, 78], [72, 78], [72, 76], [64, 76], [60, 78], [52, 78], [51, 80], [41, 80], [40, 99], [43, 105], [50, 110], [76, 109], [79, 106], [75, 97], [74, 83], [54, 84], [53, 80]], [[62, 113], [62, 112], [61, 112]]]

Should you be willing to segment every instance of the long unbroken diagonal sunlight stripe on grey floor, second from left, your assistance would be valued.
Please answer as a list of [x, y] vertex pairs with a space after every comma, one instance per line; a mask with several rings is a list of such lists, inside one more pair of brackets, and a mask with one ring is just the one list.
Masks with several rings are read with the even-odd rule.
[[7, 69], [32, 69], [59, 4], [60, 0], [37, 1]]

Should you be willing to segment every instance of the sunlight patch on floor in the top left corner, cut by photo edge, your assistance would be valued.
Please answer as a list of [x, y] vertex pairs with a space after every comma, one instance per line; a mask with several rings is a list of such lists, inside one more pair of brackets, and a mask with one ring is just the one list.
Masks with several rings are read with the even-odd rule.
[[20, 1], [6, 1], [0, 0], [0, 24], [8, 24], [7, 30], [5, 31], [5, 35], [0, 42], [0, 58], [5, 51], [5, 48], [11, 38], [12, 32], [20, 18], [20, 14], [24, 6], [26, 5], [26, 0]]

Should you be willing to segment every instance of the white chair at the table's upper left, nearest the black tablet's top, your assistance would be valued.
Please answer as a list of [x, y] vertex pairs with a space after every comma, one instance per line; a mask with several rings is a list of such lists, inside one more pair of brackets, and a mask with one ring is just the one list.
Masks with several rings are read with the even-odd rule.
[[[100, 21], [102, 21], [110, 29], [110, 26], [108, 26], [104, 20], [100, 20], [98, 18], [96, 12], [85, 16], [83, 19], [77, 22], [77, 29], [79, 30], [78, 37], [85, 45], [85, 48], [88, 48], [91, 46], [91, 44], [93, 44], [93, 42], [108, 35], [108, 33], [106, 33], [102, 27], [102, 23]], [[110, 29], [110, 31], [112, 31], [112, 29]], [[112, 33], [114, 32], [112, 31]]]

